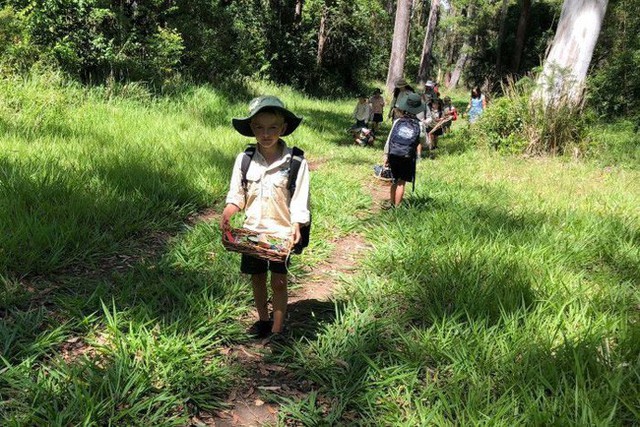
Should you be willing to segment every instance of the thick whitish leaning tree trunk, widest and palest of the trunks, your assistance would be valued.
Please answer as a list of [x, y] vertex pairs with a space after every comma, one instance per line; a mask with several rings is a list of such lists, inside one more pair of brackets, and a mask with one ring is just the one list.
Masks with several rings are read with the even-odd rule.
[[582, 101], [584, 82], [607, 0], [565, 0], [558, 29], [538, 78], [538, 97], [549, 106], [560, 97], [574, 105]]

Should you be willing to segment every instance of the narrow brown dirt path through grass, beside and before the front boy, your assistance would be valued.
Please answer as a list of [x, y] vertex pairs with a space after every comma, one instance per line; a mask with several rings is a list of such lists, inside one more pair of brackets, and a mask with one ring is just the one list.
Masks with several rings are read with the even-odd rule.
[[[365, 187], [373, 200], [370, 212], [378, 212], [388, 198], [388, 186], [372, 180]], [[207, 219], [213, 219], [210, 213]], [[336, 286], [345, 275], [353, 274], [362, 254], [368, 249], [364, 238], [356, 233], [340, 238], [339, 245], [338, 242], [333, 243], [336, 245], [329, 259], [305, 275], [302, 286], [289, 295], [287, 323], [292, 330], [309, 329], [312, 327], [312, 318], [332, 318], [335, 314], [333, 294]], [[296, 279], [292, 282], [296, 284]], [[312, 337], [313, 333], [313, 330], [308, 331], [306, 336]], [[194, 426], [275, 425], [279, 407], [268, 402], [269, 394], [301, 398], [312, 390], [313, 384], [293, 378], [285, 365], [269, 362], [271, 351], [258, 340], [227, 348], [224, 352], [234, 363], [245, 367], [248, 371], [246, 381], [229, 394], [226, 402], [229, 409], [215, 414], [200, 413], [192, 418]]]

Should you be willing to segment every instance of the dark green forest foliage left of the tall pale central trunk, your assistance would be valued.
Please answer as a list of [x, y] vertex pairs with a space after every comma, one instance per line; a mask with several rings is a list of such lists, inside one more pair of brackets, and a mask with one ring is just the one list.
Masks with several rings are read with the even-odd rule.
[[[0, 65], [24, 71], [54, 65], [84, 82], [262, 78], [338, 94], [384, 78], [392, 17], [381, 1], [11, 0], [0, 15]], [[318, 64], [318, 29], [327, 43]], [[3, 44], [4, 46], [4, 44]]]

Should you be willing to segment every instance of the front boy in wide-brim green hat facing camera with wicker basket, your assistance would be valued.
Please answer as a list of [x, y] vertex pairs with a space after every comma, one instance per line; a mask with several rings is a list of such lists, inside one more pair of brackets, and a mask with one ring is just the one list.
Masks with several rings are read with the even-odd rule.
[[[293, 152], [281, 137], [290, 135], [301, 121], [301, 117], [286, 109], [275, 96], [253, 99], [249, 103], [249, 115], [232, 120], [233, 127], [241, 135], [255, 138], [256, 149], [246, 169], [245, 180], [242, 160], [247, 154], [240, 153], [236, 158], [220, 220], [223, 233], [230, 230], [231, 217], [244, 210], [244, 228], [298, 243], [300, 226], [308, 224], [311, 219], [309, 167], [302, 158], [297, 177], [293, 177], [296, 179], [295, 190], [290, 194], [287, 183]], [[258, 311], [258, 321], [249, 333], [259, 338], [281, 339], [288, 300], [287, 263], [242, 254], [240, 271], [251, 275]], [[273, 320], [267, 306], [268, 272], [271, 272]]]

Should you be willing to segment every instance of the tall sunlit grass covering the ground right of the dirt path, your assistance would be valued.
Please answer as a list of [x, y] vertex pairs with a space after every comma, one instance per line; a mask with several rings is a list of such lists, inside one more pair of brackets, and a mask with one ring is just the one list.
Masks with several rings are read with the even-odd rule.
[[351, 303], [291, 355], [331, 409], [296, 402], [288, 416], [637, 422], [635, 175], [481, 151], [422, 162], [407, 205], [364, 226], [375, 249], [345, 282]]

